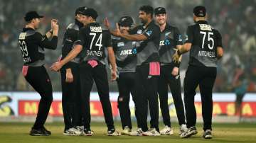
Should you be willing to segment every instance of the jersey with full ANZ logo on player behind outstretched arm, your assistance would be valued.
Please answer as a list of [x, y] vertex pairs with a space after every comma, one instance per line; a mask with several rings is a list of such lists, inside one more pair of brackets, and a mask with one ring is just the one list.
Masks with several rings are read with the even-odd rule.
[[112, 37], [112, 46], [119, 72], [135, 72], [137, 65], [136, 42]]

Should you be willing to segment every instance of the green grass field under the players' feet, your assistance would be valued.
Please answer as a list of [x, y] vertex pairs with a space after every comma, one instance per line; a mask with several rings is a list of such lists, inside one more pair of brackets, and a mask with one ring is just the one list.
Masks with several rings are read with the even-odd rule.
[[[241, 123], [241, 124], [214, 124], [213, 125], [213, 139], [203, 139], [201, 124], [197, 125], [198, 135], [188, 139], [180, 139], [178, 137], [178, 125], [174, 124], [174, 135], [160, 136], [160, 137], [107, 137], [107, 127], [104, 123], [92, 122], [92, 130], [95, 135], [92, 137], [85, 136], [65, 136], [63, 135], [63, 123], [55, 122], [46, 125], [46, 128], [52, 132], [49, 137], [31, 137], [28, 135], [32, 123], [4, 123], [0, 122], [0, 142], [97, 142], [97, 143], [149, 143], [149, 142], [256, 142], [256, 124], [255, 123]], [[116, 122], [117, 130], [121, 130], [120, 122]], [[135, 127], [135, 126], [134, 126]]]

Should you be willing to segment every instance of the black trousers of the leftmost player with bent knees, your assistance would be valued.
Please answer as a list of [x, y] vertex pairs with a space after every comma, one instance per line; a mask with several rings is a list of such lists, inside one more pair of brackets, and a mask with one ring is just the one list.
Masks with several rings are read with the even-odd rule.
[[41, 96], [36, 122], [33, 125], [33, 129], [40, 129], [46, 122], [50, 105], [53, 102], [53, 88], [50, 77], [48, 76], [46, 68], [43, 66], [28, 67], [25, 79]]

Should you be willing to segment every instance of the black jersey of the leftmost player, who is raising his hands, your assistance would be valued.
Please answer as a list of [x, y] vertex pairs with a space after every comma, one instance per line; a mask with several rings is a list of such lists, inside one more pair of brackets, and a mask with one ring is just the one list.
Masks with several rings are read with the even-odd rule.
[[44, 64], [46, 49], [55, 50], [58, 44], [58, 37], [53, 36], [48, 40], [46, 35], [36, 32], [33, 28], [23, 28], [18, 36], [18, 47], [23, 56], [24, 65], [42, 66]]

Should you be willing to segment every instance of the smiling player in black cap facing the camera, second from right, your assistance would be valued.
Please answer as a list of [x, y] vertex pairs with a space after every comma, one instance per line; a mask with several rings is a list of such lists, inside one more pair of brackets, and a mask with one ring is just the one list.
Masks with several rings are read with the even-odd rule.
[[172, 60], [172, 56], [176, 50], [182, 45], [182, 36], [178, 28], [166, 22], [166, 9], [163, 7], [155, 8], [154, 14], [156, 22], [161, 30], [159, 43], [159, 56], [161, 62], [161, 74], [159, 77], [159, 101], [161, 114], [164, 120], [164, 129], [160, 131], [161, 135], [173, 135], [174, 131], [171, 128], [171, 120], [168, 104], [168, 86], [171, 89], [171, 96], [174, 99], [178, 124], [181, 132], [186, 131], [186, 121], [184, 106], [181, 97], [181, 79], [179, 75], [179, 63]]

